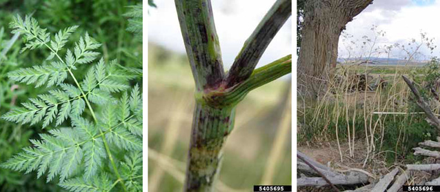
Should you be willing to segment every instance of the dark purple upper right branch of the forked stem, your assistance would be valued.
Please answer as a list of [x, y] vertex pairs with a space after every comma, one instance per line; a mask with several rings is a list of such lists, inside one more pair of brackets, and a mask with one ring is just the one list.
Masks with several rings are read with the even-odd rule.
[[226, 75], [226, 88], [235, 86], [252, 75], [261, 55], [290, 15], [292, 15], [292, 0], [277, 0], [274, 3], [252, 35], [246, 40], [234, 64], [232, 64]]

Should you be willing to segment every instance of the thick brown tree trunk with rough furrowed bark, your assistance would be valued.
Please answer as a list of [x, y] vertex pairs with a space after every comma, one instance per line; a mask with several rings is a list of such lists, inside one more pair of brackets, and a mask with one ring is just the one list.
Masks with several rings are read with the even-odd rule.
[[372, 0], [309, 0], [297, 65], [300, 94], [317, 98], [336, 66], [339, 35]]

